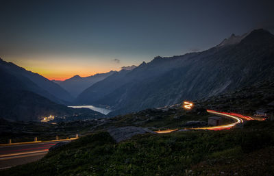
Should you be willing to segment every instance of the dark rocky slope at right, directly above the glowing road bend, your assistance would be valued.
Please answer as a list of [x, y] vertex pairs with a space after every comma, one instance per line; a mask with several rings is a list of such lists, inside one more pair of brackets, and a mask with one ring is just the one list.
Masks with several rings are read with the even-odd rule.
[[256, 110], [274, 112], [274, 82], [260, 81], [232, 92], [195, 101], [196, 108], [206, 108], [240, 114], [255, 114]]

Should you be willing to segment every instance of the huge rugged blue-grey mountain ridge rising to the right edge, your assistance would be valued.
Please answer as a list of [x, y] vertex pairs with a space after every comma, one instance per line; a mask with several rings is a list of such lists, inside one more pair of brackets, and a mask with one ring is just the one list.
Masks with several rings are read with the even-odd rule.
[[256, 29], [232, 34], [206, 51], [160, 56], [132, 71], [120, 71], [82, 92], [75, 102], [108, 105], [110, 115], [125, 114], [219, 95], [274, 79], [274, 36]]

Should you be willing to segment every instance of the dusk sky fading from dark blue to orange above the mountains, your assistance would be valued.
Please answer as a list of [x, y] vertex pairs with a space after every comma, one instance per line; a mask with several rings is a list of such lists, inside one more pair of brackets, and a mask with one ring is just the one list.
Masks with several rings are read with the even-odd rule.
[[48, 79], [119, 71], [155, 56], [274, 31], [274, 1], [0, 1], [0, 58]]

